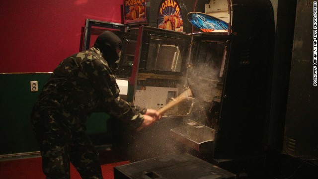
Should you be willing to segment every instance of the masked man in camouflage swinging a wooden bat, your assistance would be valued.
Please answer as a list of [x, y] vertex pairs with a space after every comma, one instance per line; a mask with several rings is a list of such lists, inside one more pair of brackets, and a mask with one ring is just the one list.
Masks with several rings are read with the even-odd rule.
[[70, 162], [83, 179], [102, 179], [98, 153], [85, 134], [93, 111], [104, 111], [131, 128], [148, 127], [160, 115], [119, 97], [111, 70], [119, 59], [120, 38], [110, 31], [94, 46], [64, 59], [54, 70], [31, 115], [47, 179], [69, 179]]

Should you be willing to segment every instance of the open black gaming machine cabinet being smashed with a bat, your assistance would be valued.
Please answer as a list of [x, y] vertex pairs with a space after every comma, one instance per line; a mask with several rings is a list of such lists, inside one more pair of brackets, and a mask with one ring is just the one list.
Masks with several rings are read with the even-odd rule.
[[[270, 113], [274, 21], [270, 3], [229, 4], [228, 32], [184, 33], [141, 26], [132, 76], [133, 102], [182, 118], [172, 138], [214, 159], [263, 150]], [[247, 20], [248, 19], [248, 20]]]

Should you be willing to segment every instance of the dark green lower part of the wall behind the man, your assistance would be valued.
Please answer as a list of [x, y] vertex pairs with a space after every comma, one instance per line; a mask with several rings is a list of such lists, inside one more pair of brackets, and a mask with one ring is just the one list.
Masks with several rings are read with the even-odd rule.
[[[30, 124], [32, 106], [40, 91], [30, 91], [30, 81], [42, 89], [50, 73], [0, 74], [0, 155], [38, 151]], [[94, 113], [87, 122], [87, 133], [98, 145], [107, 143], [109, 115]]]

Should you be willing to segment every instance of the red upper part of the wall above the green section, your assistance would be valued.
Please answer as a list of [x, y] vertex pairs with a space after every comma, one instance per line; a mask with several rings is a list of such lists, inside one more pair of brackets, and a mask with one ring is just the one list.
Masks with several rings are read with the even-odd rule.
[[0, 73], [52, 72], [79, 52], [86, 18], [121, 23], [123, 0], [6, 0]]

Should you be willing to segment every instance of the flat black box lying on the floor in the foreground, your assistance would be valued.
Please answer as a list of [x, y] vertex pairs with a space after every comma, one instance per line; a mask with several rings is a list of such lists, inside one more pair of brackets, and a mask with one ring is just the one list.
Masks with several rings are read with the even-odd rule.
[[236, 179], [189, 154], [170, 154], [114, 168], [114, 179]]

